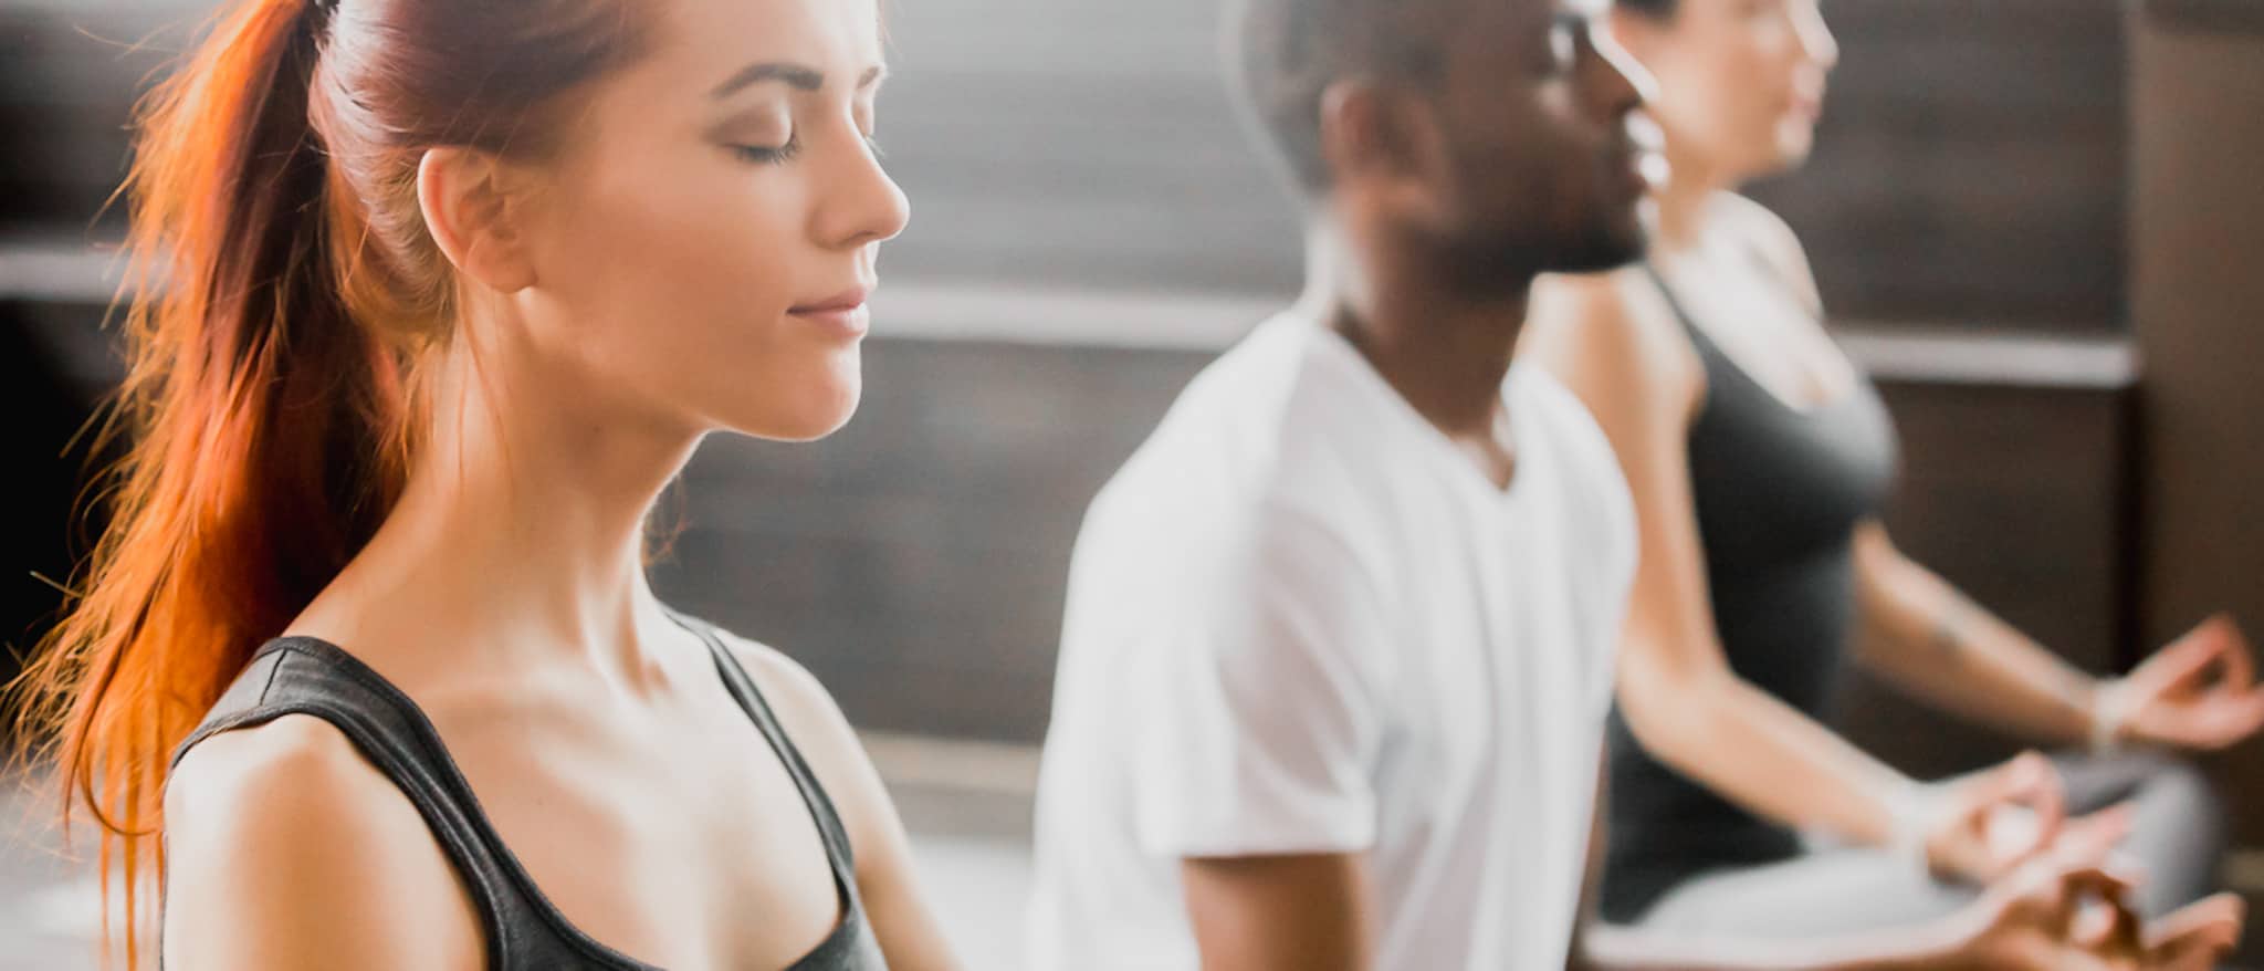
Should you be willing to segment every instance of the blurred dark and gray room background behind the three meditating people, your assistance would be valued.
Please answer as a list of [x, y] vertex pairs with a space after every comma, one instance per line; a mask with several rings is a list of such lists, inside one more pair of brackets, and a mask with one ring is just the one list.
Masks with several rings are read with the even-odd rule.
[[[118, 378], [97, 217], [129, 106], [211, 7], [0, 0], [0, 677], [100, 521], [72, 432]], [[2090, 670], [2212, 609], [2264, 634], [2264, 0], [1832, 0], [1813, 161], [1759, 197], [1881, 380], [1904, 548]], [[867, 392], [815, 446], [711, 441], [657, 570], [865, 729], [976, 966], [1014, 966], [1069, 545], [1214, 353], [1297, 287], [1229, 115], [1216, 0], [894, 0]], [[1922, 774], [2010, 742], [1847, 686]], [[2210, 763], [2264, 910], [2264, 751]], [[93, 885], [0, 788], [0, 971], [91, 966]], [[20, 822], [25, 819], [25, 822]], [[2250, 933], [2250, 942], [2255, 942]], [[2255, 948], [2255, 944], [2250, 944]], [[2248, 962], [2259, 962], [2255, 953]]]

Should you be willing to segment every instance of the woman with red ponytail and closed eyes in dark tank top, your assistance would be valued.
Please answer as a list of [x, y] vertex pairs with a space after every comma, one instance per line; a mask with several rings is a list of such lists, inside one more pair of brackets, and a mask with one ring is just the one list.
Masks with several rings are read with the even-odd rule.
[[704, 435], [856, 407], [881, 75], [869, 0], [242, 0], [152, 95], [25, 679], [127, 964], [154, 883], [188, 971], [953, 966], [824, 688], [643, 561]]

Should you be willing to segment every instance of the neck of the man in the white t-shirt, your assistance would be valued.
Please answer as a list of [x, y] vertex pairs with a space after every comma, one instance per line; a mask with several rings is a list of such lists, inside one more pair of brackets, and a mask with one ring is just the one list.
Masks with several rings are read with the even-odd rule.
[[1315, 220], [1300, 310], [1343, 333], [1440, 432], [1492, 439], [1528, 285], [1472, 299], [1410, 249]]

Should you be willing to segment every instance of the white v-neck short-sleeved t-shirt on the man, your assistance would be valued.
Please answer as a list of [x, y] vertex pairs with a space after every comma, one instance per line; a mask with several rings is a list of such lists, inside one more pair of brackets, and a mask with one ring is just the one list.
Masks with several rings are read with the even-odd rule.
[[1379, 969], [1560, 969], [1635, 512], [1562, 385], [1508, 491], [1281, 315], [1094, 500], [1037, 792], [1030, 971], [1200, 966], [1180, 858], [1365, 853]]

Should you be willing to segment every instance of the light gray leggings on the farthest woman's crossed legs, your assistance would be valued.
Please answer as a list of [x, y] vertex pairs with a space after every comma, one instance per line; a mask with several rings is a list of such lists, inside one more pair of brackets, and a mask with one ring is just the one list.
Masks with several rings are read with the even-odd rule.
[[[2146, 880], [2133, 903], [2160, 917], [2216, 890], [2226, 824], [2201, 772], [2160, 756], [2060, 756], [2072, 813], [2130, 801], [2121, 851]], [[1976, 890], [1943, 885], [1884, 849], [1832, 847], [1784, 862], [1716, 869], [1669, 890], [1637, 926], [1691, 935], [1813, 937], [1924, 923]]]

